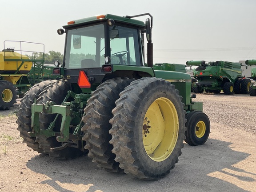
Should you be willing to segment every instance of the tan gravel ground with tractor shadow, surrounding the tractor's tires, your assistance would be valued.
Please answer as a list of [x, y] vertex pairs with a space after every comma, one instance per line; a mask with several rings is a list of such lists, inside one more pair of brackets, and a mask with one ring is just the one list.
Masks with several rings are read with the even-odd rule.
[[105, 172], [87, 157], [56, 160], [22, 142], [15, 111], [0, 112], [0, 192], [256, 192], [256, 97], [198, 94], [211, 121], [208, 141], [185, 144], [158, 181]]

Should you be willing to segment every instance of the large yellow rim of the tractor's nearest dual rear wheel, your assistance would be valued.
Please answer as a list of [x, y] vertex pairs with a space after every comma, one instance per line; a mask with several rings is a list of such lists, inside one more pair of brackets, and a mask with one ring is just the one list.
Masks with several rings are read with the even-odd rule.
[[179, 117], [171, 100], [160, 97], [148, 108], [142, 126], [144, 149], [157, 162], [167, 159], [178, 139]]

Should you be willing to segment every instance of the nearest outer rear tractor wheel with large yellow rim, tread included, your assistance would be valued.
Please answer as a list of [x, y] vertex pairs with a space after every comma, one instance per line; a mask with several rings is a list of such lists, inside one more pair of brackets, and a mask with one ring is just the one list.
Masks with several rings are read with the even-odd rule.
[[124, 172], [142, 180], [166, 176], [181, 155], [185, 111], [179, 91], [163, 79], [145, 77], [120, 93], [110, 120], [110, 144]]

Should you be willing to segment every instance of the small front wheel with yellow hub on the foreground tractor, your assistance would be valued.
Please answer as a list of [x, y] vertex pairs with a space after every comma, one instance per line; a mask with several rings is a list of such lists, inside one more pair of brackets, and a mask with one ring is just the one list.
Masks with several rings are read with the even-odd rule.
[[204, 144], [210, 134], [210, 120], [201, 111], [193, 111], [186, 115], [187, 131], [185, 132], [185, 142], [189, 145], [197, 146]]

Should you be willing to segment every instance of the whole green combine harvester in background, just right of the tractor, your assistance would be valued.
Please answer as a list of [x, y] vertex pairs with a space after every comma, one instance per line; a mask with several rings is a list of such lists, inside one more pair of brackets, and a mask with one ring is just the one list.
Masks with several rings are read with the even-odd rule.
[[251, 80], [242, 77], [240, 63], [228, 61], [187, 61], [187, 65], [198, 66], [194, 69], [197, 82], [193, 85], [194, 93], [213, 92], [224, 94], [248, 94]]

